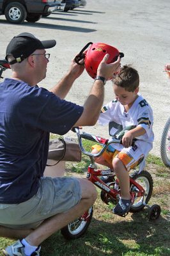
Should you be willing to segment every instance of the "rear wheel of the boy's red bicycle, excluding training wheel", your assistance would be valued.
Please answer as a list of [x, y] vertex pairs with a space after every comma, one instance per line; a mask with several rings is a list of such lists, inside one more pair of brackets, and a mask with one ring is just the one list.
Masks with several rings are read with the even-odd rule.
[[[145, 190], [145, 203], [148, 204], [153, 191], [153, 179], [149, 172], [142, 171], [141, 173], [134, 172], [130, 175], [137, 183]], [[133, 184], [130, 184], [130, 191], [136, 193], [139, 191]], [[144, 208], [143, 197], [135, 196], [134, 204], [130, 207], [130, 212], [139, 212]]]

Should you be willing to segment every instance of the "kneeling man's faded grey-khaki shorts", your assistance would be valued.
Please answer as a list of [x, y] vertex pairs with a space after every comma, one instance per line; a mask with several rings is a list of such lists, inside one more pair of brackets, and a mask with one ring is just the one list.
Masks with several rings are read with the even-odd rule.
[[78, 179], [42, 177], [38, 192], [26, 202], [0, 204], [0, 225], [16, 229], [35, 228], [43, 220], [68, 211], [80, 200]]

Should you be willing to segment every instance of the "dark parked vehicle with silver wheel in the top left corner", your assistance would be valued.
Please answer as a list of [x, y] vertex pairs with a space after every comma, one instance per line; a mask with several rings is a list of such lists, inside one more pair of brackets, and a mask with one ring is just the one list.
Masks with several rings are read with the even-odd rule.
[[0, 0], [0, 15], [5, 15], [6, 20], [19, 24], [38, 21], [42, 15], [49, 15], [51, 12], [63, 11], [65, 3], [62, 0]]

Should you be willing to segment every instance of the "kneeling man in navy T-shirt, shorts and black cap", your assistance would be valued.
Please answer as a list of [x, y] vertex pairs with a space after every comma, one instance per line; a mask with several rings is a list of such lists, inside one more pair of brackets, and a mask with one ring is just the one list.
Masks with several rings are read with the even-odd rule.
[[12, 79], [0, 86], [0, 236], [21, 240], [3, 250], [4, 255], [40, 255], [40, 244], [97, 198], [86, 179], [43, 177], [49, 132], [65, 134], [73, 126], [97, 122], [104, 79], [118, 71], [120, 58], [107, 64], [109, 54], [105, 55], [82, 107], [63, 100], [84, 70], [75, 61], [50, 92], [36, 85], [46, 76], [50, 54], [45, 49], [54, 45], [55, 40], [41, 42], [22, 33], [6, 49]]

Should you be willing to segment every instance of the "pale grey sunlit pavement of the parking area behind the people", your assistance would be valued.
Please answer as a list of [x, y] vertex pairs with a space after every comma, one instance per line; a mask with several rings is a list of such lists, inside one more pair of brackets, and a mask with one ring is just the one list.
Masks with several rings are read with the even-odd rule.
[[[152, 154], [160, 156], [162, 129], [169, 117], [170, 80], [164, 65], [170, 63], [169, 0], [88, 0], [85, 7], [69, 12], [52, 13], [35, 23], [9, 24], [0, 16], [0, 58], [15, 35], [33, 33], [41, 40], [55, 39], [47, 77], [39, 84], [51, 88], [65, 74], [70, 61], [88, 42], [103, 42], [124, 52], [121, 64], [131, 64], [140, 76], [140, 92], [153, 108], [155, 141]], [[10, 76], [10, 70], [4, 77]], [[82, 105], [93, 79], [86, 71], [73, 85], [67, 100]], [[114, 99], [112, 83], [105, 85], [104, 103]], [[84, 131], [107, 137], [107, 127], [84, 127]]]

